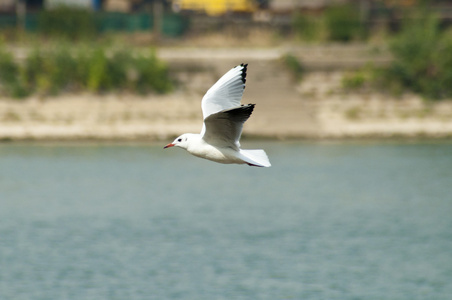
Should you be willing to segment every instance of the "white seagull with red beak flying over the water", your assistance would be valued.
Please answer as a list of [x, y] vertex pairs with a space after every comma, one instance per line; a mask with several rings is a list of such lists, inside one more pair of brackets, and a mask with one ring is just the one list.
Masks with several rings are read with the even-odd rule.
[[201, 101], [204, 123], [201, 133], [184, 133], [164, 149], [180, 147], [190, 154], [222, 164], [270, 167], [262, 149], [240, 149], [243, 124], [255, 104], [241, 105], [248, 64], [238, 65], [224, 74]]

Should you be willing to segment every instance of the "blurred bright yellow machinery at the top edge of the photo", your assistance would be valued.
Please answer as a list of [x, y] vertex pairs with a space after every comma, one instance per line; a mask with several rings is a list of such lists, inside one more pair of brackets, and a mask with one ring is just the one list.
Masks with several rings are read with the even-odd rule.
[[230, 12], [251, 13], [257, 9], [257, 5], [252, 0], [173, 0], [173, 8], [219, 16]]

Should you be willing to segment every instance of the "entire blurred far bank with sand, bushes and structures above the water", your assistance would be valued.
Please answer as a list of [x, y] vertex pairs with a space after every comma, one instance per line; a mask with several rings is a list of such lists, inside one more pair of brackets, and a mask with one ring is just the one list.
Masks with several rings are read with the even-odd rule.
[[259, 109], [250, 136], [448, 137], [451, 7], [4, 0], [0, 138], [156, 140], [196, 132], [200, 98], [242, 62], [251, 85], [245, 101]]

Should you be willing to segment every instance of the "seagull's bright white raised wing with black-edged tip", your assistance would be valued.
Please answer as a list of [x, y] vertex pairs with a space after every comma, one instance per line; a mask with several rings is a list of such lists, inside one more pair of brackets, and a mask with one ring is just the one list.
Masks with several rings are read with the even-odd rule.
[[201, 102], [204, 119], [219, 111], [240, 106], [247, 66], [241, 64], [232, 68], [207, 91]]

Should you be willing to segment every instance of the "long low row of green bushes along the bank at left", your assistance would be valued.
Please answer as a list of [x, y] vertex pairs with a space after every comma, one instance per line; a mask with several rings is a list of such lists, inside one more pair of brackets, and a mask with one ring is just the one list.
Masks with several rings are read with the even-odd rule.
[[165, 93], [171, 89], [168, 68], [153, 50], [36, 48], [21, 63], [8, 51], [0, 51], [0, 91], [16, 98], [62, 91]]

